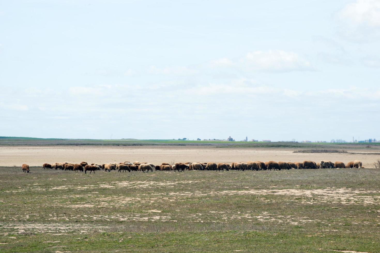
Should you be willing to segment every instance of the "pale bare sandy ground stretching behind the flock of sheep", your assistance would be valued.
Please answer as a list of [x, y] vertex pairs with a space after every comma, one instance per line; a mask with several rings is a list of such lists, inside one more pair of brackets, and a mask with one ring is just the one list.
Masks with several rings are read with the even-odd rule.
[[[293, 153], [291, 148], [215, 148], [203, 146], [0, 146], [0, 166], [42, 166], [43, 163], [86, 161], [89, 163], [140, 161], [162, 162], [239, 162], [250, 160], [302, 162], [303, 160], [330, 160], [347, 162], [358, 159], [371, 168], [376, 154]], [[376, 150], [350, 150], [358, 153], [375, 153]]]

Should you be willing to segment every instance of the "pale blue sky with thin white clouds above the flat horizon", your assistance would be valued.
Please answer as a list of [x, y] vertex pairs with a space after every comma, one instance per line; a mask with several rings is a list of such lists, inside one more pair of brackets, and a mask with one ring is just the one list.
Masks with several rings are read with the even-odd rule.
[[380, 139], [380, 0], [0, 2], [0, 136]]

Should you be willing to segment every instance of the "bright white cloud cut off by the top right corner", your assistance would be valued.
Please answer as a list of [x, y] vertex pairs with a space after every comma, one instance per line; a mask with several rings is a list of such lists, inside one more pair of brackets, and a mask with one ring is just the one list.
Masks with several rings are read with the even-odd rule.
[[338, 15], [354, 25], [380, 27], [380, 0], [357, 0], [344, 6]]

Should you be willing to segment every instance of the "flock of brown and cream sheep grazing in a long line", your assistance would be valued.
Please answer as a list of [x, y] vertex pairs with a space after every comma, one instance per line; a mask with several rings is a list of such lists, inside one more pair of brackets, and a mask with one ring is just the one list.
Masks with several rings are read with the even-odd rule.
[[[97, 164], [92, 163], [89, 165], [87, 162], [81, 163], [44, 163], [42, 165], [44, 169], [55, 169], [55, 170], [72, 170], [72, 171], [93, 171], [95, 173], [96, 170], [104, 170], [105, 172], [110, 172], [111, 170], [117, 170], [119, 172], [125, 171], [142, 171], [149, 172], [153, 170], [178, 170], [182, 172], [184, 170], [217, 170], [217, 171], [228, 171], [228, 170], [290, 170], [290, 169], [317, 169], [317, 168], [364, 168], [362, 167], [362, 163], [359, 160], [354, 160], [352, 162], [347, 163], [347, 166], [343, 162], [335, 162], [332, 163], [330, 161], [320, 161], [319, 163], [315, 163], [313, 161], [304, 161], [304, 162], [233, 162], [229, 163], [214, 163], [214, 162], [185, 162], [185, 163], [174, 163], [170, 165], [169, 163], [162, 163], [161, 165], [154, 165], [152, 163], [146, 162], [120, 162], [120, 163], [104, 163]], [[22, 171], [24, 173], [29, 173], [29, 165], [23, 164]]]

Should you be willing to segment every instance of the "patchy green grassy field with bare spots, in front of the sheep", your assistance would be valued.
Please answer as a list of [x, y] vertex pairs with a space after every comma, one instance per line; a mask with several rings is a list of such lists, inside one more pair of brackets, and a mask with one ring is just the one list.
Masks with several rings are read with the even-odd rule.
[[1, 252], [380, 250], [380, 171], [0, 167]]

